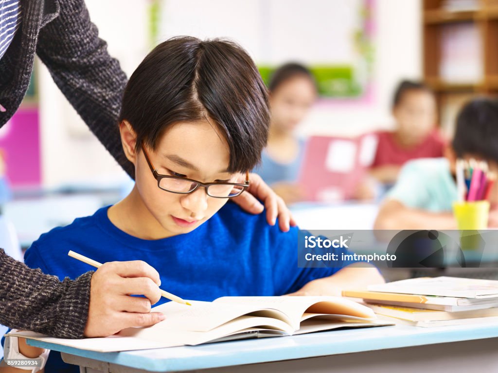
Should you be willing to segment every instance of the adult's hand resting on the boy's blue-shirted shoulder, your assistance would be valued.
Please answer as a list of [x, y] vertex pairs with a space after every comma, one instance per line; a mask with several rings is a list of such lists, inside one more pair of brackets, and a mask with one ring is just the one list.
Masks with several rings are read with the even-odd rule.
[[[249, 174], [249, 193], [232, 198], [234, 202], [240, 205], [246, 211], [252, 214], [260, 214], [263, 211], [263, 205], [258, 201], [262, 200], [266, 207], [266, 220], [268, 224], [275, 225], [278, 217], [278, 226], [283, 232], [289, 230], [289, 226], [294, 227], [296, 222], [292, 217], [289, 209], [280, 198], [257, 174]], [[257, 199], [256, 199], [257, 198]]]

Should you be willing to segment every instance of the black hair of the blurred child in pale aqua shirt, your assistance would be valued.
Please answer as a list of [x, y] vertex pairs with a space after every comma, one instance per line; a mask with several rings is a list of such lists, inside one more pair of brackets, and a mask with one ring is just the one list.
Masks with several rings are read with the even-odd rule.
[[498, 162], [498, 100], [476, 98], [465, 104], [452, 146], [457, 157], [472, 154]]

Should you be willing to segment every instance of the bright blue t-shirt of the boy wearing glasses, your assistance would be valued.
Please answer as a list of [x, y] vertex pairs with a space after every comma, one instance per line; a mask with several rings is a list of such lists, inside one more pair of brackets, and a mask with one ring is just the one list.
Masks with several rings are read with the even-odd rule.
[[[265, 213], [252, 215], [232, 202], [194, 231], [160, 240], [124, 233], [109, 220], [108, 208], [41, 235], [26, 251], [26, 265], [62, 280], [92, 270], [68, 257], [69, 250], [101, 263], [143, 260], [159, 272], [163, 289], [184, 299], [207, 301], [225, 295], [282, 295], [338, 271], [298, 268], [298, 229], [281, 232], [277, 224], [267, 224]], [[339, 257], [344, 251], [335, 250]], [[161, 298], [157, 304], [165, 301]], [[79, 372], [72, 367], [52, 352], [45, 371]]]

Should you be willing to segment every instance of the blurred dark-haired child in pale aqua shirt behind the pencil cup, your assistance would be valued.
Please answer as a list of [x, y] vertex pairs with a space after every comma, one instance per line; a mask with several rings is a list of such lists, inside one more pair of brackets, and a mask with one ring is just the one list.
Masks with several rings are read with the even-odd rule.
[[[420, 159], [403, 166], [397, 183], [377, 215], [375, 229], [456, 229], [452, 203], [457, 200], [457, 158], [487, 161], [498, 170], [498, 101], [475, 99], [457, 118], [455, 137], [444, 158]], [[489, 226], [498, 226], [497, 188], [490, 197]]]

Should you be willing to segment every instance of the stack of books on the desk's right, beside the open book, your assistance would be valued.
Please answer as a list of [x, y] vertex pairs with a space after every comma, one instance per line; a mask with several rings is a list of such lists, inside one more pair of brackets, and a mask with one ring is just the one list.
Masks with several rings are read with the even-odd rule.
[[415, 326], [498, 321], [498, 281], [452, 277], [418, 278], [344, 290], [363, 298], [377, 315]]

